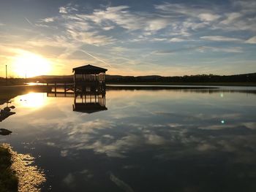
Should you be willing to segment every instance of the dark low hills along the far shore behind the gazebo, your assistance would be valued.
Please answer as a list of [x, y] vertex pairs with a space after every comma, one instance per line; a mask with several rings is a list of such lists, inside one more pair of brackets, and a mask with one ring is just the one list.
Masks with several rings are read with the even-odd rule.
[[[29, 78], [30, 82], [72, 82], [72, 75], [42, 75]], [[106, 82], [256, 82], [256, 73], [217, 75], [197, 74], [174, 77], [162, 77], [159, 75], [147, 76], [121, 76], [106, 75]]]

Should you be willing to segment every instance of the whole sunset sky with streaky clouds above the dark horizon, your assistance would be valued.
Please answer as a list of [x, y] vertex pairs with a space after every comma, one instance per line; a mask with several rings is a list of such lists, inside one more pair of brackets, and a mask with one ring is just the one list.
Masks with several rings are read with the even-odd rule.
[[[256, 72], [256, 1], [0, 0], [0, 76]], [[29, 71], [30, 70], [30, 71]]]

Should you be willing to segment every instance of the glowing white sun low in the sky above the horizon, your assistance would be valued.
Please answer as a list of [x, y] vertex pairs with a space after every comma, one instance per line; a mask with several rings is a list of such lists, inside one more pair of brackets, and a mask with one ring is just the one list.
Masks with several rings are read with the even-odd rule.
[[22, 53], [15, 56], [13, 71], [18, 77], [35, 77], [50, 72], [50, 62], [34, 53]]

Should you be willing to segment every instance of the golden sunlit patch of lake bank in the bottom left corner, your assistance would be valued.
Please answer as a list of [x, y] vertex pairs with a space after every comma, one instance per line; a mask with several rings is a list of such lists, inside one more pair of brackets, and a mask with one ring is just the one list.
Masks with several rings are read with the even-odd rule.
[[[15, 152], [9, 144], [5, 143], [0, 145], [0, 152], [2, 151], [4, 156], [0, 153], [0, 159], [5, 161], [5, 166], [0, 170], [8, 173], [0, 177], [0, 184], [4, 183], [3, 186], [0, 185], [3, 192], [39, 192], [40, 186], [46, 179], [41, 169], [31, 165], [34, 158], [31, 155]], [[0, 167], [2, 168], [1, 164]], [[0, 175], [2, 173], [4, 172], [0, 172]]]

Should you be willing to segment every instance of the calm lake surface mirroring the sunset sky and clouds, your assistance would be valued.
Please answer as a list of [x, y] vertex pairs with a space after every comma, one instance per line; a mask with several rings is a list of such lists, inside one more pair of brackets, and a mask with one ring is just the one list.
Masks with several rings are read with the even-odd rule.
[[28, 93], [12, 99], [0, 128], [13, 134], [0, 142], [36, 158], [42, 191], [255, 192], [256, 94], [246, 90], [107, 91], [108, 110], [91, 114]]

